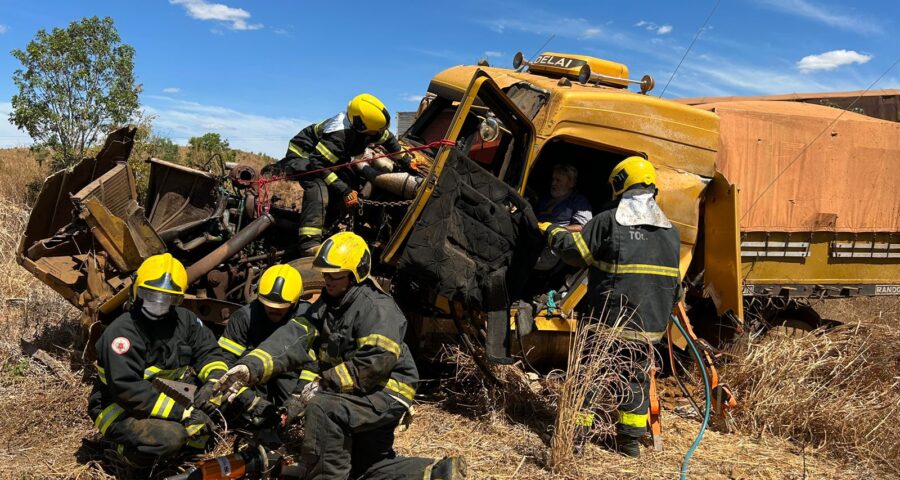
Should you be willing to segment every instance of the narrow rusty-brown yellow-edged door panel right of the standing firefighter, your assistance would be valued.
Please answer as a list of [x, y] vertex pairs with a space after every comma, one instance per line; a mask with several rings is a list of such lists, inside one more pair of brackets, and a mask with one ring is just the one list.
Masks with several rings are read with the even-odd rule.
[[744, 320], [738, 188], [716, 172], [704, 202], [703, 282], [719, 315]]

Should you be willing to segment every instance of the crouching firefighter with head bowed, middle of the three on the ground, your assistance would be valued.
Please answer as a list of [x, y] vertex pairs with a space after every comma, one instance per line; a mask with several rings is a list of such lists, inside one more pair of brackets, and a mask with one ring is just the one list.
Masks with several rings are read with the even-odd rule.
[[[304, 321], [302, 315], [309, 303], [300, 300], [302, 293], [303, 279], [297, 269], [284, 264], [267, 268], [259, 279], [256, 300], [231, 314], [219, 337], [219, 346], [228, 365], [234, 365], [291, 319]], [[304, 367], [300, 373], [285, 372], [255, 390], [241, 392], [235, 398], [235, 405], [251, 422], [265, 421], [272, 413], [270, 406], [282, 406], [298, 388], [299, 381], [315, 379], [315, 362]]]

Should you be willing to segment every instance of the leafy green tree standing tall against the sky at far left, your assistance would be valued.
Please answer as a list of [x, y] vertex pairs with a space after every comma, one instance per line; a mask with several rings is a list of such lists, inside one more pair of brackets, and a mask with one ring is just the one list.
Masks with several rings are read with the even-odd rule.
[[83, 18], [65, 29], [38, 30], [13, 73], [19, 92], [9, 120], [48, 149], [54, 167], [67, 167], [113, 125], [132, 119], [141, 86], [134, 49], [121, 42], [109, 17]]

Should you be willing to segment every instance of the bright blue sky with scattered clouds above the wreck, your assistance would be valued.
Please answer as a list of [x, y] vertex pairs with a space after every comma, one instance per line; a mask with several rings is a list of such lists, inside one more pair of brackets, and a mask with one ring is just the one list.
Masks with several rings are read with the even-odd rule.
[[[715, 0], [312, 2], [0, 0], [0, 146], [29, 143], [6, 118], [19, 66], [8, 52], [40, 29], [110, 16], [136, 49], [141, 103], [184, 144], [218, 132], [284, 154], [305, 125], [360, 92], [414, 110], [440, 70], [545, 50], [650, 73], [662, 91]], [[900, 57], [900, 2], [723, 0], [666, 97], [862, 90]], [[900, 66], [875, 88], [900, 88]]]

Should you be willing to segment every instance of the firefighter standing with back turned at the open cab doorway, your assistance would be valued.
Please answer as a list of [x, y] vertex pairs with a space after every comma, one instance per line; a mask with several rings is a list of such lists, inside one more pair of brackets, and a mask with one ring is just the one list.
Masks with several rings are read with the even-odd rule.
[[[634, 371], [626, 372], [629, 391], [620, 399], [612, 446], [624, 455], [638, 457], [638, 440], [649, 420], [652, 352], [648, 343], [662, 339], [680, 297], [680, 237], [656, 204], [656, 171], [649, 161], [626, 158], [613, 168], [609, 183], [615, 208], [594, 216], [581, 232], [548, 223], [541, 223], [540, 228], [563, 261], [590, 268], [590, 316], [599, 316], [596, 321], [607, 326], [615, 325], [612, 331], [618, 340], [632, 342], [624, 350], [637, 352], [629, 362]], [[593, 414], [585, 410], [578, 421], [590, 429]]]

